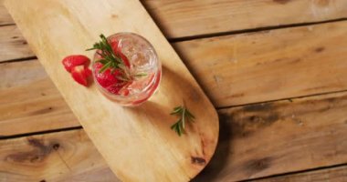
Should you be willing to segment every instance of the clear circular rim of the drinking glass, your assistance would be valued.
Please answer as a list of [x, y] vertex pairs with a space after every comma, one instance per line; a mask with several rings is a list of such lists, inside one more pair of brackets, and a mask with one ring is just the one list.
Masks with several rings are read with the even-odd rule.
[[[112, 94], [110, 93], [108, 90], [106, 90], [104, 87], [100, 86], [99, 82], [94, 79], [94, 82], [95, 84], [103, 91], [105, 92], [106, 94], [112, 96], [112, 97], [117, 97], [119, 99], [125, 99], [125, 98], [129, 98], [131, 96], [138, 96], [138, 95], [141, 95], [143, 92], [147, 92], [149, 89], [152, 88], [152, 84], [155, 83], [157, 81], [157, 79], [159, 79], [159, 82], [161, 82], [161, 77], [162, 77], [162, 63], [159, 61], [159, 58], [158, 58], [158, 55], [153, 47], [153, 45], [146, 39], [144, 38], [142, 35], [138, 35], [138, 34], [135, 34], [135, 33], [132, 33], [132, 32], [120, 32], [120, 33], [116, 33], [116, 34], [113, 34], [113, 35], [109, 35], [106, 37], [107, 40], [109, 40], [110, 37], [112, 36], [116, 36], [116, 35], [133, 35], [133, 36], [137, 36], [139, 38], [141, 38], [147, 45], [149, 45], [151, 48], [152, 48], [152, 52], [153, 52], [153, 55], [154, 55], [154, 58], [155, 58], [155, 62], [156, 62], [156, 65], [158, 66], [157, 70], [155, 71], [155, 74], [153, 76], [153, 79], [152, 81], [150, 82], [150, 84], [148, 86], [146, 86], [144, 89], [142, 89], [141, 92], [138, 92], [136, 94], [130, 94], [128, 96], [121, 96], [121, 95], [115, 95], [115, 94]], [[95, 56], [97, 55], [97, 53], [95, 52], [94, 53], [94, 57], [93, 57], [93, 61], [92, 61], [92, 65], [91, 65], [91, 72], [92, 72], [92, 75], [93, 75], [93, 78], [95, 78], [95, 73], [94, 73], [94, 64], [95, 64]], [[158, 74], [161, 74], [160, 76], [158, 76]], [[157, 89], [159, 87], [160, 83], [158, 83], [158, 86], [155, 88]]]

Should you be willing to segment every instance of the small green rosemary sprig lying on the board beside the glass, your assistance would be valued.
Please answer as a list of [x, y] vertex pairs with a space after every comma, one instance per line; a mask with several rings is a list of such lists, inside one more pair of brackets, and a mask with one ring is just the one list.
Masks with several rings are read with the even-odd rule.
[[171, 126], [178, 136], [182, 136], [184, 134], [185, 122], [194, 122], [195, 116], [185, 107], [185, 106], [176, 106], [174, 107], [171, 115], [180, 116], [180, 118]]

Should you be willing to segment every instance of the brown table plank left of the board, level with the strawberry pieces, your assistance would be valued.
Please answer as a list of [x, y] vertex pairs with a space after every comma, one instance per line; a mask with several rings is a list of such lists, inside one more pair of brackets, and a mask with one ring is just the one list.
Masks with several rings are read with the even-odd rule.
[[35, 61], [0, 65], [0, 136], [80, 126]]

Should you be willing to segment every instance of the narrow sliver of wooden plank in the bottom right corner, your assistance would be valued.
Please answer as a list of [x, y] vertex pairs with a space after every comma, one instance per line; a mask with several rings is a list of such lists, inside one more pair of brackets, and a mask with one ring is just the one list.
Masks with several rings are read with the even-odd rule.
[[331, 167], [321, 170], [314, 170], [310, 172], [302, 172], [293, 175], [286, 175], [281, 177], [270, 177], [260, 180], [254, 180], [257, 182], [344, 182], [347, 178], [347, 167]]

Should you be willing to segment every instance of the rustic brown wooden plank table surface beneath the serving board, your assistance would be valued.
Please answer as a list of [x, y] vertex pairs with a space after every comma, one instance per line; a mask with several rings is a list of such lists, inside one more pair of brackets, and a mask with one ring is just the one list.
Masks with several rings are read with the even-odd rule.
[[[117, 181], [2, 3], [0, 182]], [[219, 114], [193, 181], [347, 181], [347, 1], [142, 4]]]

